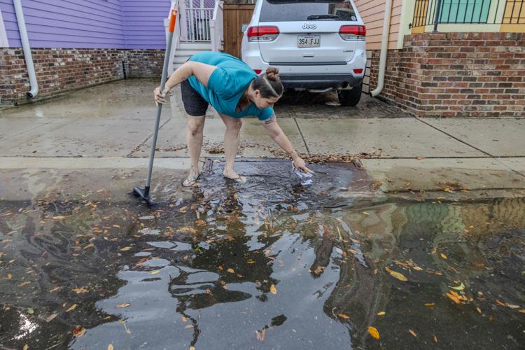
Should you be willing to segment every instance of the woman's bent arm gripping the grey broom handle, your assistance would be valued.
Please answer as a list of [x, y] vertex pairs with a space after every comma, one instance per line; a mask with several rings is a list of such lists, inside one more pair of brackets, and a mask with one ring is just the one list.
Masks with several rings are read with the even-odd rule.
[[155, 102], [160, 104], [165, 103], [166, 99], [164, 97], [169, 92], [169, 90], [172, 90], [174, 86], [179, 85], [184, 80], [190, 78], [190, 76], [195, 76], [195, 78], [197, 78], [197, 80], [199, 80], [202, 85], [208, 87], [209, 77], [216, 68], [216, 66], [211, 66], [210, 64], [204, 64], [200, 62], [188, 61], [184, 63], [172, 73], [172, 76], [169, 77], [162, 93], [160, 92], [160, 87], [157, 87], [155, 91], [153, 91]]

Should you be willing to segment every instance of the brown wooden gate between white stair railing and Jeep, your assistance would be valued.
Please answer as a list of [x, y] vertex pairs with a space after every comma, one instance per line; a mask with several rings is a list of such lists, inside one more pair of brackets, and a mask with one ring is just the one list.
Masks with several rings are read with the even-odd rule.
[[254, 4], [224, 4], [224, 52], [241, 58], [241, 25], [248, 24]]

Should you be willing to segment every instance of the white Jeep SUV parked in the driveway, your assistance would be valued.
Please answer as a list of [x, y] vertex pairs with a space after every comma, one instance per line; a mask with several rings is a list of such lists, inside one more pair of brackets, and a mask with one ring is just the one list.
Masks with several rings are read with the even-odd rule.
[[365, 25], [352, 0], [257, 0], [241, 58], [255, 73], [279, 68], [285, 88], [337, 90], [355, 106], [366, 67]]

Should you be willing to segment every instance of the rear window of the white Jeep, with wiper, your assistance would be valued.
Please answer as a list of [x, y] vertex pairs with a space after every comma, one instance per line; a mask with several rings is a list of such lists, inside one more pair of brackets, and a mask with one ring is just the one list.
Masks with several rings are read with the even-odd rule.
[[349, 0], [265, 0], [259, 22], [296, 22], [307, 20], [356, 21]]

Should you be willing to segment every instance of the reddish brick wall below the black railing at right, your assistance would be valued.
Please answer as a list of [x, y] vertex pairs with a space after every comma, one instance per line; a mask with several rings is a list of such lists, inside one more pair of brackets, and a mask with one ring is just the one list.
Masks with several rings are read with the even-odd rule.
[[[370, 56], [377, 86], [379, 50]], [[425, 33], [388, 50], [381, 97], [416, 116], [525, 116], [525, 33]]]

